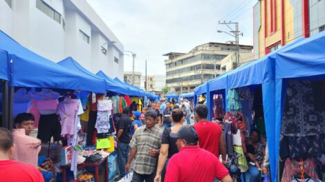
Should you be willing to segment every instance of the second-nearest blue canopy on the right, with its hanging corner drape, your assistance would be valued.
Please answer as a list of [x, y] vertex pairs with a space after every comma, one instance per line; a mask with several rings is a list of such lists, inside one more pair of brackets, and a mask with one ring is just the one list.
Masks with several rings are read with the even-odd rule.
[[[295, 45], [302, 39], [295, 41], [292, 44], [286, 45], [284, 48]], [[278, 51], [277, 51], [278, 52]], [[263, 90], [263, 110], [264, 110], [264, 119], [266, 123], [266, 133], [269, 146], [269, 155], [270, 155], [270, 170], [272, 174], [272, 179], [276, 180], [277, 163], [273, 159], [275, 157], [275, 151], [272, 150], [275, 146], [275, 61], [271, 59], [276, 52], [272, 52], [257, 61], [252, 61], [246, 63], [236, 70], [222, 74], [216, 79], [210, 81], [209, 86], [210, 90], [222, 90], [225, 89], [225, 95], [227, 95], [228, 89], [232, 88], [241, 88], [245, 86], [254, 87], [256, 85], [261, 85]], [[211, 97], [207, 98], [208, 100]], [[207, 101], [208, 103], [208, 101]]]

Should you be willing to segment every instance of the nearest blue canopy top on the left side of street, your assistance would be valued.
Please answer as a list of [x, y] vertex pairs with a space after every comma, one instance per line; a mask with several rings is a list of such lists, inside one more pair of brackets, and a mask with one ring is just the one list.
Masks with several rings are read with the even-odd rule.
[[88, 88], [78, 74], [28, 50], [2, 31], [0, 50], [8, 52], [11, 86], [70, 90]]

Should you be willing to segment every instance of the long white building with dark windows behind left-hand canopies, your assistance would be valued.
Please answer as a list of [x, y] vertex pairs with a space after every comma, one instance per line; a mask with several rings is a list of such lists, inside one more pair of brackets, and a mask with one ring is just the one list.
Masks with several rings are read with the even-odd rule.
[[1, 0], [0, 30], [52, 61], [123, 79], [123, 45], [86, 0]]

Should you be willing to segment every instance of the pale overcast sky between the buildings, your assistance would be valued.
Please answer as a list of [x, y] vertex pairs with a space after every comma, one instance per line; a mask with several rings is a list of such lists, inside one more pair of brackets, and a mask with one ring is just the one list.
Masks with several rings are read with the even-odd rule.
[[[145, 75], [165, 74], [163, 54], [189, 52], [196, 45], [234, 40], [216, 30], [229, 31], [218, 21], [238, 21], [243, 37], [252, 45], [252, 7], [257, 0], [87, 0], [120, 39], [124, 50], [137, 54], [135, 70]], [[124, 71], [132, 58], [124, 57]]]

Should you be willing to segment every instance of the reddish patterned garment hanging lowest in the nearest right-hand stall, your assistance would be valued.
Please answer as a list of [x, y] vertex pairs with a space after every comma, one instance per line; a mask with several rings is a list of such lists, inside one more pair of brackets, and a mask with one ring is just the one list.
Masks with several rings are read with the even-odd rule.
[[[310, 158], [304, 160], [304, 172], [308, 174], [308, 176], [319, 179], [316, 172], [317, 163], [315, 160]], [[291, 181], [293, 176], [296, 176], [300, 173], [300, 162], [295, 161], [295, 159], [286, 159], [286, 163], [284, 164], [284, 173], [282, 174], [281, 182]]]

